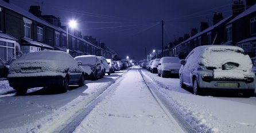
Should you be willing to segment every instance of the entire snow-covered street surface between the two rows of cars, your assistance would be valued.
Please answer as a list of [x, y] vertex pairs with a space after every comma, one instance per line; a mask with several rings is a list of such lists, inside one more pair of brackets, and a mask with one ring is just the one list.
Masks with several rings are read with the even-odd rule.
[[69, 88], [67, 93], [43, 88], [26, 96], [0, 95], [0, 132], [61, 132], [72, 122], [69, 132], [183, 132], [184, 123], [196, 132], [256, 131], [256, 97], [196, 96], [180, 88], [178, 78], [138, 67]]

